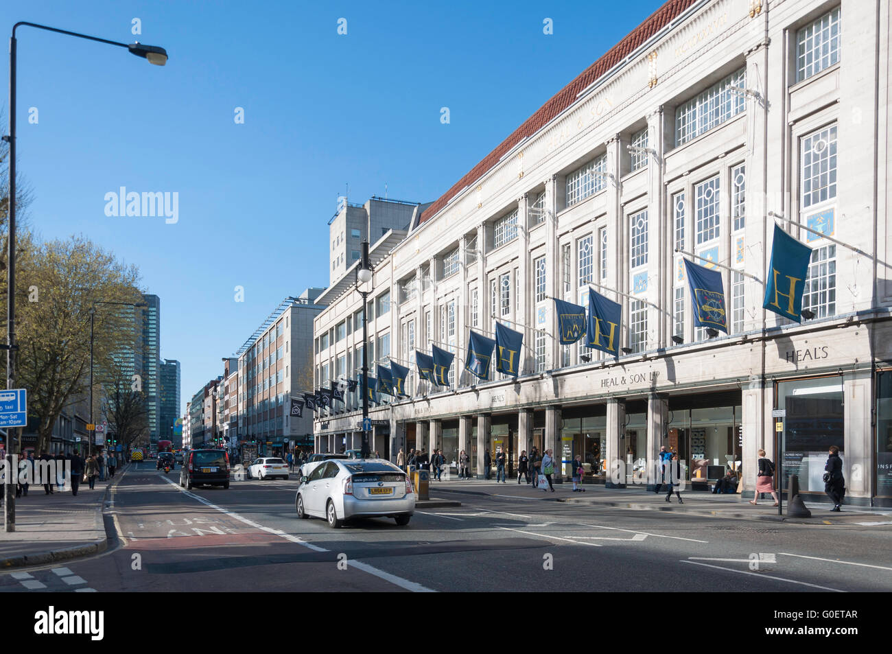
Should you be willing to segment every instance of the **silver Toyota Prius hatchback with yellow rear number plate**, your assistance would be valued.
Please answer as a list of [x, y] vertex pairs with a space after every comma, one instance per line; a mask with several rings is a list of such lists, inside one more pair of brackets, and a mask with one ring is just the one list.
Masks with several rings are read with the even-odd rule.
[[392, 517], [408, 525], [415, 512], [409, 476], [384, 459], [332, 459], [301, 477], [298, 517], [323, 517], [332, 527], [353, 517]]

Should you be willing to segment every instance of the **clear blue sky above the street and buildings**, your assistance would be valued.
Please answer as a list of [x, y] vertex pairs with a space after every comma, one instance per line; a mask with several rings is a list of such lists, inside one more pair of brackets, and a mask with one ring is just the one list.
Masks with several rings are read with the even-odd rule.
[[[351, 202], [385, 184], [434, 201], [660, 4], [6, 0], [4, 43], [30, 21], [170, 57], [161, 68], [19, 29], [29, 222], [139, 267], [161, 297], [161, 356], [182, 363], [185, 410], [283, 297], [327, 285], [326, 222], [345, 184]], [[6, 54], [4, 115], [8, 83]], [[120, 186], [178, 193], [178, 222], [106, 216]]]

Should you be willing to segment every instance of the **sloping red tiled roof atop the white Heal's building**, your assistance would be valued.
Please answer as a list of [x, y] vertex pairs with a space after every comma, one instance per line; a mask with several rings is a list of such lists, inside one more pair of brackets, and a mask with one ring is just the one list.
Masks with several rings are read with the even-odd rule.
[[446, 206], [452, 197], [458, 194], [465, 186], [474, 183], [477, 179], [483, 177], [487, 170], [495, 166], [505, 153], [520, 143], [524, 138], [531, 137], [541, 128], [549, 123], [560, 112], [563, 112], [568, 106], [576, 101], [576, 96], [599, 79], [607, 70], [612, 69], [617, 63], [624, 60], [629, 54], [634, 52], [648, 38], [654, 36], [660, 29], [663, 29], [669, 22], [684, 12], [691, 4], [697, 0], [668, 0], [662, 7], [653, 12], [648, 19], [642, 22], [637, 28], [632, 29], [622, 41], [610, 48], [606, 54], [601, 56], [597, 62], [594, 62], [587, 69], [574, 79], [572, 82], [562, 88], [551, 99], [544, 103], [537, 112], [533, 113], [524, 123], [514, 130], [511, 135], [502, 141], [495, 150], [487, 154], [483, 161], [480, 161], [472, 168], [465, 177], [456, 182], [446, 193], [428, 207], [421, 216], [420, 222], [432, 219], [437, 211]]

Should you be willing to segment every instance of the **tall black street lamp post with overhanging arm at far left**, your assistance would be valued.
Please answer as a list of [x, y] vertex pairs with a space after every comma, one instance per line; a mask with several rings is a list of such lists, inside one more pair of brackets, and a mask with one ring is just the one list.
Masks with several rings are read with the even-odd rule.
[[[16, 88], [16, 45], [15, 30], [20, 27], [45, 29], [49, 32], [65, 34], [69, 37], [86, 38], [89, 41], [97, 41], [109, 46], [126, 47], [131, 54], [145, 58], [149, 63], [163, 66], [167, 63], [167, 51], [162, 47], [143, 46], [140, 43], [126, 44], [118, 41], [109, 41], [105, 38], [90, 37], [78, 32], [70, 32], [67, 29], [56, 29], [46, 25], [38, 25], [34, 22], [17, 22], [12, 26], [12, 37], [9, 40], [9, 134], [4, 138], [9, 144], [9, 245], [7, 250], [7, 286], [6, 293], [6, 388], [15, 388], [15, 88]], [[90, 407], [92, 410], [93, 407]], [[6, 438], [7, 466], [12, 469], [12, 430], [9, 430]], [[21, 448], [20, 448], [21, 449]], [[15, 493], [14, 484], [4, 484], [5, 506], [4, 526], [7, 532], [15, 531]]]

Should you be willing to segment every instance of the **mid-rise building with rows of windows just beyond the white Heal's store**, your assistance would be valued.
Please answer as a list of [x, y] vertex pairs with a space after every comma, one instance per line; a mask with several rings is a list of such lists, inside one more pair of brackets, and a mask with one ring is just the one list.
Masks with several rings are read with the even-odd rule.
[[289, 408], [291, 397], [313, 391], [313, 319], [322, 310], [320, 294], [322, 289], [308, 288], [285, 298], [236, 352], [237, 437], [258, 443], [260, 452], [281, 453], [291, 441], [312, 447], [312, 411], [292, 418]]

